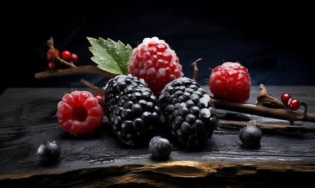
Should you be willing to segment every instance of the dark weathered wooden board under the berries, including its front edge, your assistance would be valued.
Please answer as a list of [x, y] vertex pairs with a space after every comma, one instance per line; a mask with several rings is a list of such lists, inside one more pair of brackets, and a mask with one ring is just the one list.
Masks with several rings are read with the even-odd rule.
[[[308, 113], [315, 113], [315, 86], [266, 88], [276, 98], [291, 93], [308, 104]], [[71, 89], [10, 88], [1, 95], [0, 185], [267, 186], [276, 182], [276, 186], [292, 186], [315, 175], [315, 123], [296, 122], [307, 128], [305, 132], [266, 133], [259, 149], [241, 147], [237, 130], [218, 129], [203, 148], [187, 151], [175, 144], [169, 159], [154, 161], [148, 146], [126, 146], [107, 126], [85, 136], [63, 134], [54, 115], [65, 91]], [[252, 88], [250, 103], [255, 103], [258, 92], [258, 88]], [[289, 124], [218, 111], [223, 119]], [[169, 138], [165, 127], [157, 134]], [[60, 160], [43, 166], [37, 149], [41, 143], [53, 140], [61, 146]], [[295, 182], [293, 176], [303, 181]]]

